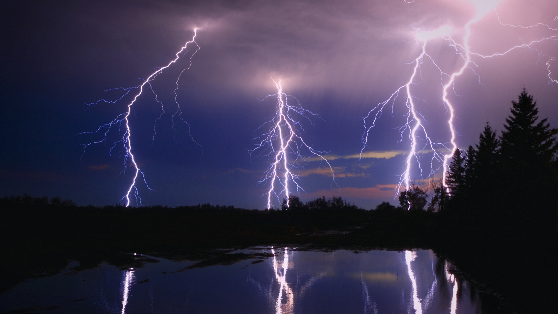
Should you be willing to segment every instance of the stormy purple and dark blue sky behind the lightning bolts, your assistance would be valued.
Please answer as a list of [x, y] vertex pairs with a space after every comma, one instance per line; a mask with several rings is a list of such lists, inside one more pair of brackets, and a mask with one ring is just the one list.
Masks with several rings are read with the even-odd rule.
[[[175, 82], [189, 64], [184, 58], [189, 55], [184, 55], [152, 82], [166, 113], [161, 116], [161, 104], [148, 89], [129, 118], [134, 156], [156, 190], [138, 185], [144, 205], [266, 206], [269, 185], [257, 183], [272, 160], [258, 154], [251, 158], [248, 150], [266, 132], [258, 127], [271, 120], [276, 110], [276, 98], [258, 100], [277, 92], [271, 77], [281, 78], [283, 92], [319, 115], [311, 118], [313, 124], [301, 120], [301, 136], [316, 150], [329, 152], [324, 156], [335, 170], [334, 183], [323, 164], [320, 168], [312, 159], [300, 161], [294, 173], [301, 175], [299, 183], [305, 190], [301, 199], [342, 196], [364, 208], [382, 201], [393, 203], [412, 144], [408, 129], [403, 135], [397, 129], [407, 120], [409, 98], [402, 92], [389, 102], [359, 159], [363, 117], [410, 81], [415, 59], [427, 42], [428, 56], [421, 59], [420, 71], [411, 81], [410, 99], [432, 142], [451, 146], [442, 88], [451, 73], [463, 66], [465, 50], [450, 44], [464, 45], [466, 23], [475, 17], [478, 21], [470, 26], [469, 40], [472, 63], [449, 89], [456, 144], [466, 149], [477, 142], [487, 120], [501, 131], [511, 101], [524, 86], [537, 99], [540, 116], [558, 126], [558, 84], [551, 81], [558, 75], [551, 73], [549, 78], [549, 70], [558, 72], [553, 59], [558, 3], [551, 0], [529, 4], [349, 1], [342, 5], [337, 1], [20, 1], [3, 2], [0, 12], [3, 196], [60, 196], [80, 205], [120, 202], [132, 170], [123, 172], [122, 145], [109, 155], [118, 141], [117, 129], [109, 140], [88, 146], [85, 154], [82, 144], [98, 137], [78, 134], [97, 130], [126, 112], [129, 99], [89, 108], [86, 103], [119, 97], [118, 91], [104, 92], [107, 89], [142, 84], [141, 79], [157, 66], [175, 58], [191, 40], [195, 26], [201, 27], [196, 37], [201, 48], [180, 77], [177, 101], [201, 148], [190, 139], [184, 123], [171, 128]], [[440, 29], [446, 32], [425, 37], [430, 33], [424, 31]], [[534, 40], [542, 41], [501, 56], [482, 57]], [[427, 181], [431, 165], [440, 167], [430, 162], [432, 151], [424, 138], [419, 134], [409, 173], [418, 183]], [[435, 178], [440, 175], [435, 172]]]

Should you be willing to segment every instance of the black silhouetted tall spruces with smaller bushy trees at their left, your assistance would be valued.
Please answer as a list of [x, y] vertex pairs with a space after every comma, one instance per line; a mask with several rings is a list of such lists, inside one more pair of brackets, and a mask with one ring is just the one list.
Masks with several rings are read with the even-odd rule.
[[422, 210], [428, 203], [430, 211], [477, 218], [555, 215], [557, 134], [547, 118], [539, 120], [536, 101], [523, 88], [518, 100], [512, 101], [501, 135], [487, 122], [478, 144], [454, 151], [445, 186], [441, 182], [426, 188], [413, 184], [400, 193], [400, 206]]

